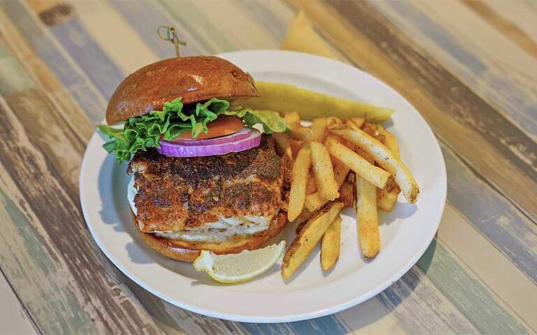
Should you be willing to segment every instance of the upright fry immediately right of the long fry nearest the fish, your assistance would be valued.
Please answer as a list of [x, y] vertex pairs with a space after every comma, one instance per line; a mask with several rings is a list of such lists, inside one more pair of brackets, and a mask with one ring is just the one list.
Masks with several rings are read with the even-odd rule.
[[334, 179], [330, 154], [327, 148], [319, 142], [311, 142], [311, 164], [321, 197], [327, 200], [338, 198], [338, 184]]

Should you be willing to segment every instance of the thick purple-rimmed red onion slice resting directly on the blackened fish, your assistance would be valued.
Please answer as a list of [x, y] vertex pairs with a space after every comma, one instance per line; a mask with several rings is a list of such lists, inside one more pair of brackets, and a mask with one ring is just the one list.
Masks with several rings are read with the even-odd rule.
[[250, 135], [242, 140], [219, 144], [183, 145], [161, 140], [160, 149], [157, 149], [157, 152], [171, 157], [215, 156], [252, 149], [257, 147], [259, 143], [261, 143], [261, 133], [255, 129], [250, 129]]

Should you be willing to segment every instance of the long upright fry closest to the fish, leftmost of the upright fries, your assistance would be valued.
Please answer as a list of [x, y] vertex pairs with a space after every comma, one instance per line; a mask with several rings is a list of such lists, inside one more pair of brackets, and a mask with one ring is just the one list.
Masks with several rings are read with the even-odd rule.
[[311, 166], [311, 149], [308, 143], [305, 143], [293, 165], [291, 191], [289, 191], [289, 208], [287, 219], [294, 221], [301, 213], [304, 202], [306, 202], [306, 184], [308, 183], [308, 172]]

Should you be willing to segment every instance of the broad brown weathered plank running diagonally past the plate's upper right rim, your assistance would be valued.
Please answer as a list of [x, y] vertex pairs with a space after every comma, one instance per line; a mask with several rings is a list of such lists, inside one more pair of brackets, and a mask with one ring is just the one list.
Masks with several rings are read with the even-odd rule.
[[537, 187], [536, 163], [532, 153], [537, 152], [537, 144], [434, 60], [420, 54], [366, 3], [334, 6], [345, 8], [339, 8], [340, 12], [322, 3], [301, 4], [334, 44], [345, 46], [344, 52], [352, 61], [406, 96], [436, 135], [457, 148], [466, 163], [529, 217], [536, 218], [537, 194], [532, 191]]

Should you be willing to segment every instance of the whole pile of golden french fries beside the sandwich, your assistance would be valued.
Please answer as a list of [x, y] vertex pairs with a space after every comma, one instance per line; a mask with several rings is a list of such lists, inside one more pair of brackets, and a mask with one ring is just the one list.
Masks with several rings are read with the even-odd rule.
[[399, 193], [416, 202], [420, 188], [399, 159], [395, 136], [361, 118], [314, 119], [301, 126], [299, 114], [286, 113], [292, 137], [274, 134], [278, 148], [293, 161], [287, 219], [296, 238], [287, 249], [282, 276], [290, 278], [321, 241], [322, 269], [336, 265], [344, 207], [357, 215], [361, 253], [380, 251], [378, 209], [392, 211]]

